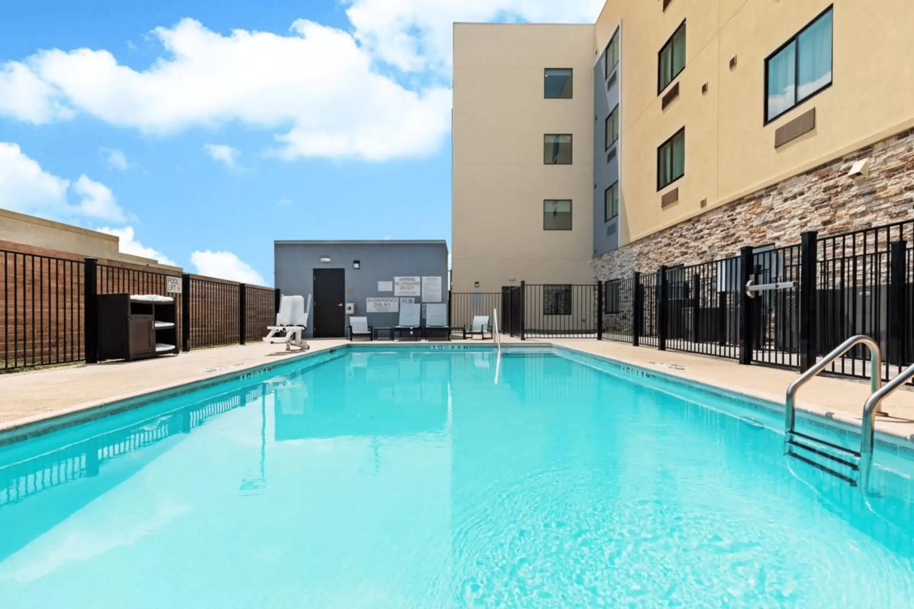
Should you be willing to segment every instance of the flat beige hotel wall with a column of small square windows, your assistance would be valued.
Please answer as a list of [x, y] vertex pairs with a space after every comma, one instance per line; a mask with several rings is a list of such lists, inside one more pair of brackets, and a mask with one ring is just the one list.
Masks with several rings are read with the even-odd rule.
[[[593, 26], [454, 25], [454, 291], [590, 282], [593, 40]], [[573, 68], [573, 99], [543, 99], [545, 68]], [[543, 164], [546, 133], [572, 134], [573, 164]], [[544, 199], [572, 200], [572, 230], [543, 230]]]

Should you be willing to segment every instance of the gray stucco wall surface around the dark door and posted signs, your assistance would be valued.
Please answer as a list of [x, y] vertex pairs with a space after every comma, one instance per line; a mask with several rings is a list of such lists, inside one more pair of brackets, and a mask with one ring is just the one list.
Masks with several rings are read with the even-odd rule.
[[[399, 313], [367, 313], [367, 298], [392, 298], [393, 292], [378, 292], [378, 281], [394, 277], [441, 277], [441, 302], [448, 299], [448, 247], [441, 242], [380, 241], [345, 242], [277, 242], [274, 244], [274, 285], [285, 295], [301, 294], [305, 301], [314, 292], [314, 268], [345, 269], [345, 301], [356, 303], [356, 316], [367, 317], [376, 328], [397, 325]], [[329, 257], [329, 263], [321, 262]], [[358, 260], [361, 268], [353, 268]], [[416, 297], [416, 302], [422, 302]], [[312, 305], [314, 307], [314, 305]], [[423, 308], [424, 323], [424, 308]], [[314, 329], [314, 309], [305, 336]], [[346, 316], [345, 324], [349, 318]], [[340, 329], [340, 336], [344, 329]]]

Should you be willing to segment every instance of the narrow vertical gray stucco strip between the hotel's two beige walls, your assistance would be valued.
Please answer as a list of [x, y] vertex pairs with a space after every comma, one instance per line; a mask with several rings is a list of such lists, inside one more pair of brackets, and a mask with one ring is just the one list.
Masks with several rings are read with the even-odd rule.
[[[622, 40], [622, 28], [616, 36]], [[620, 45], [621, 46], [621, 45]], [[606, 222], [604, 196], [606, 189], [619, 179], [619, 142], [622, 140], [622, 120], [619, 121], [620, 136], [606, 149], [606, 118], [619, 103], [619, 89], [622, 82], [622, 61], [609, 75], [606, 74], [606, 50], [600, 61], [593, 67], [593, 255], [600, 256], [619, 247], [619, 216]], [[620, 207], [622, 194], [620, 193]]]

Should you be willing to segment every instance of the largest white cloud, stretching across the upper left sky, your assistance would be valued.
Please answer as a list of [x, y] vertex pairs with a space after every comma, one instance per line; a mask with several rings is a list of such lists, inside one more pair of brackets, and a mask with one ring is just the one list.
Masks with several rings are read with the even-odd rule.
[[[88, 48], [40, 51], [16, 65], [47, 86], [46, 104], [158, 133], [243, 121], [278, 131], [274, 152], [285, 159], [422, 156], [450, 129], [449, 89], [410, 90], [378, 74], [343, 30], [299, 20], [288, 36], [222, 36], [183, 19], [154, 35], [165, 54], [143, 71]], [[16, 86], [0, 87], [0, 99]]]

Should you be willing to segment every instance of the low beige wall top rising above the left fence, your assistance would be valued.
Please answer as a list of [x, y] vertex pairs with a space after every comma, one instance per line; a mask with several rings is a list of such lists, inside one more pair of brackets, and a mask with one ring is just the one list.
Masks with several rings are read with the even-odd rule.
[[29, 247], [41, 247], [85, 257], [122, 260], [132, 264], [146, 265], [180, 272], [180, 267], [160, 265], [151, 258], [123, 254], [118, 250], [117, 236], [80, 228], [61, 222], [46, 220], [34, 215], [0, 209], [0, 241]]

